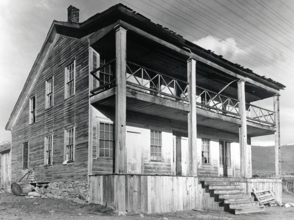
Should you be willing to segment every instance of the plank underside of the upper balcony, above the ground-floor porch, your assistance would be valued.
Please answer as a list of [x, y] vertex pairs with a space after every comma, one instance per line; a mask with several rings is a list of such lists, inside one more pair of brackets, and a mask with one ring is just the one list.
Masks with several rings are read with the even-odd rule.
[[[160, 97], [156, 98], [161, 99]], [[146, 100], [139, 100], [133, 97], [126, 97], [126, 103], [127, 111], [133, 111], [182, 122], [188, 121], [188, 111], [183, 109], [152, 103]], [[95, 104], [115, 107], [115, 95], [97, 101]], [[223, 114], [216, 114], [202, 108], [197, 108], [197, 125], [239, 134], [239, 126], [241, 125], [241, 121], [238, 118], [225, 116]], [[274, 132], [275, 128], [273, 127], [262, 126], [259, 123], [254, 122], [247, 122], [247, 134], [250, 137], [274, 134]]]

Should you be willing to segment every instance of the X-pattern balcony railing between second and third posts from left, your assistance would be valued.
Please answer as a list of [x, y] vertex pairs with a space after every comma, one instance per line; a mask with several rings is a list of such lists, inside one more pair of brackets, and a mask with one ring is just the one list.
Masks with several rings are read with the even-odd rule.
[[239, 115], [237, 99], [233, 99], [216, 92], [196, 86], [202, 92], [196, 95], [196, 102], [202, 108], [221, 111], [226, 114]]

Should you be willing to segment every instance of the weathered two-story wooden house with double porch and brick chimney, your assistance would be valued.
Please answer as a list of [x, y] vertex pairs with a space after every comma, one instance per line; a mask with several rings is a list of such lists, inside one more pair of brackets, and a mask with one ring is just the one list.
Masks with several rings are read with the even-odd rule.
[[[52, 23], [7, 123], [12, 182], [31, 170], [47, 196], [128, 212], [223, 211], [237, 197], [262, 211], [253, 187], [281, 200], [285, 86], [121, 4], [78, 15]], [[269, 97], [272, 110], [251, 104]], [[269, 134], [277, 179], [252, 179], [250, 138]]]

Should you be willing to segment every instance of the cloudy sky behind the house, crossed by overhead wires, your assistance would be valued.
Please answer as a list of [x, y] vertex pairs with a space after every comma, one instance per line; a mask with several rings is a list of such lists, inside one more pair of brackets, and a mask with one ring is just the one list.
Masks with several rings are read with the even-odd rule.
[[[0, 142], [6, 123], [53, 22], [80, 9], [80, 22], [122, 3], [182, 35], [286, 86], [280, 94], [281, 144], [294, 143], [294, 1], [292, 0], [0, 0]], [[254, 103], [273, 110], [273, 99]], [[274, 136], [252, 138], [274, 145]]]

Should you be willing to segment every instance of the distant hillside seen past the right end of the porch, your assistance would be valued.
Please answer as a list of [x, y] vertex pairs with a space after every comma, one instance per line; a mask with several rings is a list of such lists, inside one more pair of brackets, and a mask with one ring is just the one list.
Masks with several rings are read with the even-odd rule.
[[[251, 146], [252, 170], [275, 171], [275, 146]], [[294, 144], [281, 146], [282, 172], [294, 172]]]

